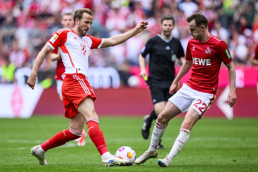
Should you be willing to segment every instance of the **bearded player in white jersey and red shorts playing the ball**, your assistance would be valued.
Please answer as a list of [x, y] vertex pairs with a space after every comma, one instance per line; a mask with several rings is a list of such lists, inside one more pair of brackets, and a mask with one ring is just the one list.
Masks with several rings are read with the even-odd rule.
[[38, 69], [46, 55], [58, 48], [65, 72], [62, 74], [62, 96], [65, 106], [65, 117], [69, 121], [69, 129], [65, 129], [41, 145], [31, 149], [31, 154], [38, 158], [38, 163], [47, 165], [45, 153], [54, 147], [82, 136], [86, 121], [88, 135], [99, 151], [104, 166], [126, 165], [128, 160], [122, 160], [108, 151], [103, 132], [99, 127], [98, 115], [93, 101], [96, 96], [88, 79], [88, 53], [93, 48], [106, 48], [125, 42], [147, 28], [148, 22], [142, 20], [136, 27], [126, 33], [110, 38], [95, 38], [87, 34], [93, 17], [90, 9], [81, 8], [74, 14], [74, 28], [58, 30], [39, 52], [33, 65], [27, 85], [34, 89]]

